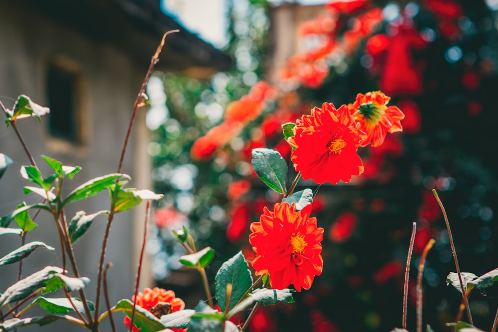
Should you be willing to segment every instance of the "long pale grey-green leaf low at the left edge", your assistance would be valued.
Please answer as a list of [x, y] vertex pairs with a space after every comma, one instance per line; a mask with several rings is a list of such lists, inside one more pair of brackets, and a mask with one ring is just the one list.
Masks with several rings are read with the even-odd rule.
[[34, 291], [46, 287], [46, 283], [56, 273], [62, 273], [60, 267], [46, 266], [38, 272], [19, 280], [3, 292], [0, 296], [0, 308], [6, 303], [20, 301], [31, 295]]

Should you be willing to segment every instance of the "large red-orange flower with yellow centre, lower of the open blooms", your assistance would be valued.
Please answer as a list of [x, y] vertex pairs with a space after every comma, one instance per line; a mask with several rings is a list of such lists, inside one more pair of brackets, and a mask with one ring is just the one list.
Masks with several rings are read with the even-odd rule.
[[322, 274], [323, 228], [310, 213], [311, 205], [296, 212], [294, 203], [276, 203], [273, 212], [265, 207], [259, 222], [251, 223], [249, 242], [256, 253], [252, 267], [256, 275], [269, 275], [272, 288], [293, 284], [300, 292]]

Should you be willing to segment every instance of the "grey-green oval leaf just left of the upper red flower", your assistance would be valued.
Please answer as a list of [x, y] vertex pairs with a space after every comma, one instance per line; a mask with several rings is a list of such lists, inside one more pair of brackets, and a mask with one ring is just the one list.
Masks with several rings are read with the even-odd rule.
[[252, 149], [252, 168], [268, 187], [277, 193], [285, 193], [287, 163], [280, 153], [266, 148]]

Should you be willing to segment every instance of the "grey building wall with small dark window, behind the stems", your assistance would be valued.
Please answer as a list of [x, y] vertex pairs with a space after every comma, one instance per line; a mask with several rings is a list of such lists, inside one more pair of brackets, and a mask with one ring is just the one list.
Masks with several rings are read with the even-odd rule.
[[[45, 93], [46, 69], [50, 61], [72, 66], [80, 73], [81, 146], [50, 137], [47, 118], [42, 118], [41, 124], [34, 118], [18, 122], [19, 130], [42, 174], [49, 175], [49, 168], [40, 158], [41, 154], [66, 165], [82, 167], [82, 171], [73, 180], [65, 181], [66, 193], [96, 176], [116, 172], [134, 99], [148, 64], [137, 66], [110, 46], [89, 40], [79, 32], [57, 25], [29, 10], [21, 10], [5, 3], [0, 3], [0, 44], [0, 99], [8, 109], [12, 108], [20, 94], [29, 96], [37, 104], [48, 104]], [[150, 163], [145, 152], [147, 135], [144, 111], [139, 110], [123, 167], [123, 172], [132, 177], [129, 187], [151, 188], [148, 176]], [[14, 160], [14, 164], [0, 180], [0, 215], [3, 216], [23, 201], [33, 204], [39, 202], [40, 198], [35, 194], [23, 195], [21, 186], [30, 183], [21, 178], [19, 168], [21, 165], [28, 165], [29, 161], [14, 131], [3, 125], [0, 126], [0, 152]], [[144, 205], [142, 203], [138, 209], [117, 215], [113, 222], [106, 254], [106, 263], [112, 261], [114, 264], [109, 271], [111, 303], [132, 295]], [[70, 219], [80, 210], [94, 213], [108, 209], [109, 195], [103, 192], [81, 203], [69, 205], [66, 215]], [[57, 231], [53, 219], [49, 217], [44, 212], [39, 214], [36, 222], [40, 227], [27, 235], [27, 241], [41, 240], [56, 250], [40, 249], [25, 258], [23, 277], [46, 265], [62, 266]], [[92, 301], [95, 300], [97, 268], [106, 221], [104, 216], [99, 216], [87, 234], [75, 245], [80, 273], [91, 279], [87, 286], [87, 296]], [[140, 235], [136, 235], [137, 231]], [[20, 239], [17, 236], [2, 235], [0, 256], [19, 245]], [[148, 269], [145, 267], [143, 270], [146, 272]], [[17, 264], [1, 266], [0, 292], [16, 278]], [[150, 279], [147, 276], [142, 277], [142, 286], [147, 285], [148, 281]], [[105, 303], [102, 302], [101, 310], [104, 308]], [[119, 326], [122, 317], [120, 315], [116, 318]], [[61, 328], [64, 326], [62, 323], [55, 324], [43, 328], [36, 326], [29, 330], [65, 331]], [[123, 327], [120, 326], [119, 331], [124, 331]]]

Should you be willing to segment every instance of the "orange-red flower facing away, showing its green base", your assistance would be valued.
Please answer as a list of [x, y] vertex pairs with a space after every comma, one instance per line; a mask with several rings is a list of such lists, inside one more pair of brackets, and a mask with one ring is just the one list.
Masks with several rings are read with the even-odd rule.
[[348, 105], [353, 117], [360, 123], [359, 129], [367, 133], [367, 138], [360, 146], [367, 146], [371, 142], [372, 147], [379, 146], [388, 132], [403, 130], [400, 121], [404, 114], [396, 106], [386, 106], [390, 99], [382, 92], [375, 91], [358, 94], [355, 103]]

